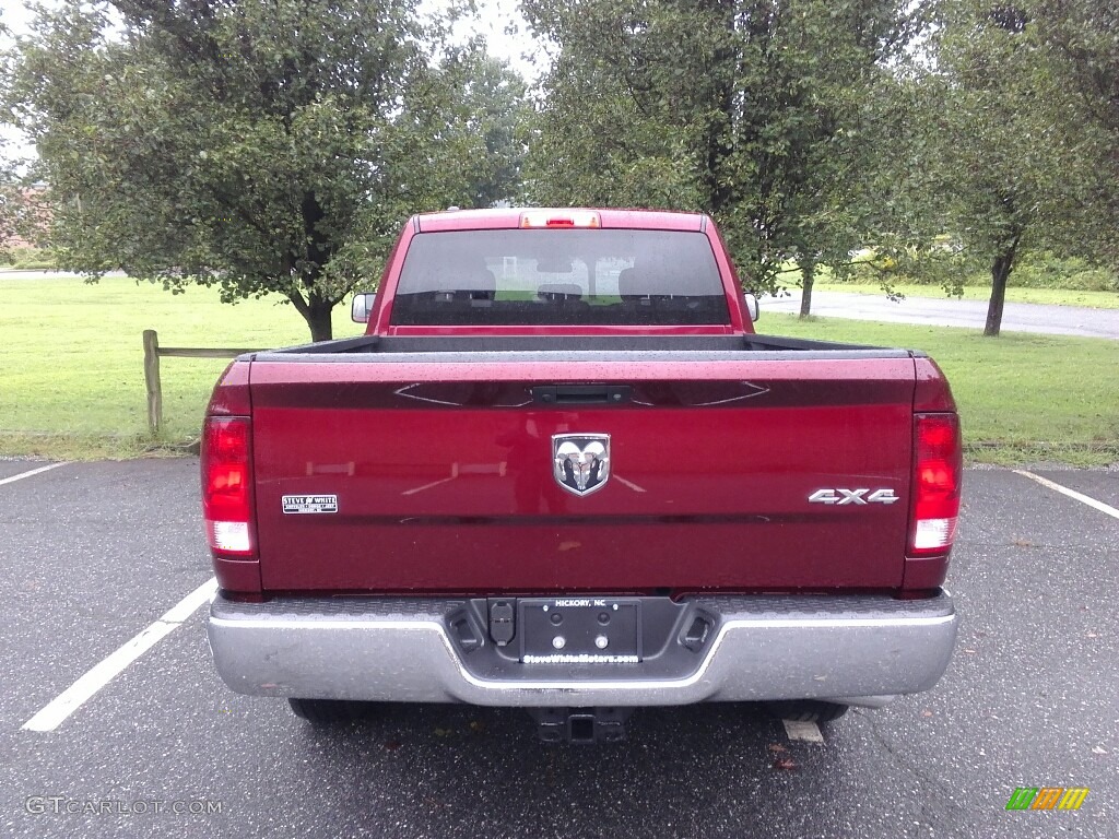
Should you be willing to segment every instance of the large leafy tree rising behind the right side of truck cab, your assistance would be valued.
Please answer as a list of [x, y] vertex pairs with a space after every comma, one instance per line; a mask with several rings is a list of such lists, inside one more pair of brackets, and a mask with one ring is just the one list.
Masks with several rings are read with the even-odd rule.
[[910, 19], [885, 0], [523, 0], [558, 54], [526, 188], [711, 213], [754, 291], [861, 244], [871, 111]]

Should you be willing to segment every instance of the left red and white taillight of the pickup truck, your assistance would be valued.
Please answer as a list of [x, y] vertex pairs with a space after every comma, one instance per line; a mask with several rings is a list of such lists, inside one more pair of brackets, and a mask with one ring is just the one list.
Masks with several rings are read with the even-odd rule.
[[253, 535], [252, 424], [210, 416], [203, 426], [203, 518], [210, 550], [251, 556]]

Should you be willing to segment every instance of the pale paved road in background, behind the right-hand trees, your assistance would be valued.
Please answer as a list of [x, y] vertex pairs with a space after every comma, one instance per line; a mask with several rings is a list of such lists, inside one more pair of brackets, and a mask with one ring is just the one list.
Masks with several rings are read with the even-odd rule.
[[[762, 298], [761, 307], [762, 318], [765, 312], [797, 313], [800, 311], [800, 292], [792, 291], [787, 298]], [[812, 293], [812, 314], [821, 318], [982, 329], [987, 322], [987, 301], [905, 298], [895, 303], [885, 294], [817, 291]], [[764, 321], [759, 326], [764, 329]], [[1003, 311], [1003, 331], [1119, 340], [1119, 309], [1007, 303]]]

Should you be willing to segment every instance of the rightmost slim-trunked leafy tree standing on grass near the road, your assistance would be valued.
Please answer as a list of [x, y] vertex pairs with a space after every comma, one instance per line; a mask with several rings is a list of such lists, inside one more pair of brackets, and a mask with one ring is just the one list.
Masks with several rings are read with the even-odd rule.
[[[923, 242], [910, 243], [918, 256], [990, 272], [984, 334], [997, 336], [1023, 254], [1082, 251], [1099, 178], [1029, 8], [943, 0], [935, 11], [932, 60], [914, 87], [919, 128], [894, 172], [927, 221]], [[958, 248], [932, 247], [937, 234]]]

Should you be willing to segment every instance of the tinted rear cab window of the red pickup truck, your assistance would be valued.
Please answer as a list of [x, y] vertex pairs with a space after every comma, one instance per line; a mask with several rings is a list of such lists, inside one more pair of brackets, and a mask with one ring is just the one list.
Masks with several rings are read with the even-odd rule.
[[731, 322], [707, 236], [681, 230], [419, 233], [393, 326], [674, 326]]

